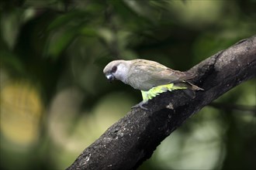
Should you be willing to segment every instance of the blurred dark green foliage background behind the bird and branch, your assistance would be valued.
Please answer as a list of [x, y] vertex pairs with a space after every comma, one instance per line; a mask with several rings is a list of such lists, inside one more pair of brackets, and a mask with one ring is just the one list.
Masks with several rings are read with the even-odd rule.
[[[256, 32], [255, 0], [0, 2], [1, 169], [64, 169], [141, 100], [113, 59], [189, 70]], [[256, 169], [256, 80], [225, 93], [139, 169]]]

